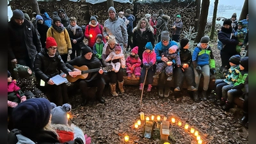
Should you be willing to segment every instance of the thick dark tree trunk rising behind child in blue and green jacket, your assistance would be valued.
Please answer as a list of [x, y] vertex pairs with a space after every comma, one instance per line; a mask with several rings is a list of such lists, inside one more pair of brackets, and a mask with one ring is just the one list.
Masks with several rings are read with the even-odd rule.
[[200, 20], [199, 20], [199, 29], [198, 29], [198, 34], [195, 40], [195, 42], [197, 43], [200, 42], [200, 39], [202, 38], [202, 36], [204, 36], [209, 5], [210, 5], [210, 0], [204, 0], [202, 2], [202, 8], [201, 8], [201, 14], [200, 14]]

